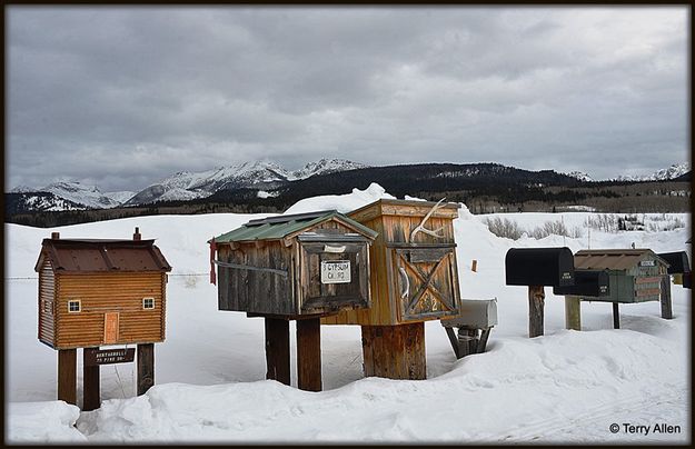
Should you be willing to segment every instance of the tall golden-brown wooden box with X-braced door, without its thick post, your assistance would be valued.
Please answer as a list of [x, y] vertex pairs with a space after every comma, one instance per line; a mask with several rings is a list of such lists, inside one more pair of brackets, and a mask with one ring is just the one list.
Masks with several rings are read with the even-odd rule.
[[[326, 317], [322, 323], [395, 326], [458, 315], [460, 293], [456, 251], [453, 248], [433, 249], [433, 246], [450, 247], [454, 243], [453, 219], [457, 217], [457, 210], [439, 209], [425, 223], [427, 229], [433, 230], [443, 227], [443, 238], [418, 232], [413, 241], [409, 240], [410, 232], [420, 223], [430, 207], [381, 203], [349, 213], [350, 218], [379, 233], [369, 250], [371, 307], [368, 310], [350, 310]], [[410, 243], [421, 245], [423, 249], [398, 248], [399, 245], [403, 247]], [[441, 252], [437, 256], [443, 256], [444, 260], [433, 275], [430, 285], [434, 289], [426, 289], [419, 295], [419, 301], [410, 305], [427, 275], [437, 265], [433, 259], [436, 251]], [[408, 278], [408, 298], [400, 298], [406, 288], [400, 268]]]

